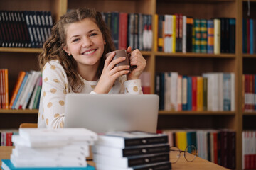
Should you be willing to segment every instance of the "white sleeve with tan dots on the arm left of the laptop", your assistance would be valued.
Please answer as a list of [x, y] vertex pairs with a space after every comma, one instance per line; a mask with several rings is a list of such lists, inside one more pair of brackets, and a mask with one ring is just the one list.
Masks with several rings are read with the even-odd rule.
[[43, 68], [43, 84], [38, 115], [38, 127], [63, 128], [65, 94], [68, 78], [58, 62], [48, 62]]

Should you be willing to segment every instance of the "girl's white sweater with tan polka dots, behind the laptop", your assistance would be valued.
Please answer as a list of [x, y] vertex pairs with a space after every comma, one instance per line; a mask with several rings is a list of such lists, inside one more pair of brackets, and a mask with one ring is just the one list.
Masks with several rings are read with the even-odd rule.
[[[38, 128], [63, 128], [65, 119], [65, 95], [73, 93], [67, 74], [58, 60], [52, 60], [43, 67], [43, 84], [38, 112]], [[82, 79], [82, 77], [80, 77]], [[95, 94], [97, 81], [82, 79], [84, 86], [80, 93]], [[119, 77], [109, 94], [142, 94], [141, 81]]]

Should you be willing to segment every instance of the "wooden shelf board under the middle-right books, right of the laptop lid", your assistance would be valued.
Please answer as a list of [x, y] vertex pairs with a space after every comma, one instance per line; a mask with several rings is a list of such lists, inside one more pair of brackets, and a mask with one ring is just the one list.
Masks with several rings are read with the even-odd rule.
[[159, 111], [159, 115], [235, 115], [235, 111]]

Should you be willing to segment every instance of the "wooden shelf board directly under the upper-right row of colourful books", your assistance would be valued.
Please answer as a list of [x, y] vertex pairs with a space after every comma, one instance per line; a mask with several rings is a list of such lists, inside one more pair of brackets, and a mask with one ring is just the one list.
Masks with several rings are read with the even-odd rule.
[[206, 53], [194, 53], [194, 52], [175, 52], [175, 53], [166, 53], [166, 52], [154, 52], [156, 57], [206, 57], [206, 58], [232, 58], [235, 59], [235, 54], [206, 54]]

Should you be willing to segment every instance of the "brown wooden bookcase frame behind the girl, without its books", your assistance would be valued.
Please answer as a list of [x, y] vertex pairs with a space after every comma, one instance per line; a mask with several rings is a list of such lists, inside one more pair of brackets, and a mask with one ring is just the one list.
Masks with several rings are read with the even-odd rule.
[[[256, 1], [250, 0], [250, 15], [256, 17]], [[196, 54], [142, 52], [146, 71], [151, 73], [154, 94], [156, 72], [178, 72], [201, 75], [203, 72], [235, 73], [235, 111], [159, 111], [159, 128], [228, 128], [236, 133], [236, 167], [242, 169], [242, 130], [255, 130], [256, 113], [242, 110], [242, 74], [256, 74], [256, 55], [242, 54], [242, 17], [247, 13], [247, 0], [0, 0], [0, 10], [51, 11], [53, 21], [67, 9], [95, 8], [97, 11], [119, 11], [145, 14], [183, 13], [194, 18], [236, 18], [235, 54]], [[154, 18], [152, 20], [154, 31]], [[156, 40], [153, 41], [153, 46]], [[0, 48], [0, 68], [9, 69], [9, 96], [20, 70], [38, 70], [41, 49]], [[0, 110], [0, 128], [18, 128], [22, 122], [36, 122], [38, 111]]]

